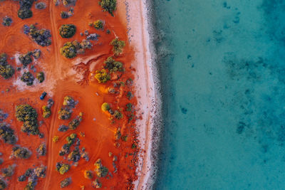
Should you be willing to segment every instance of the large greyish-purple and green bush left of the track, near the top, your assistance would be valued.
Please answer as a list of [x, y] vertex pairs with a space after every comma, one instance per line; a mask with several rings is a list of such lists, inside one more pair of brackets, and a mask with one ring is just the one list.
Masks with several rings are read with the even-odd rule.
[[39, 46], [51, 45], [51, 31], [45, 28], [37, 29], [33, 24], [31, 26], [24, 25], [24, 33], [36, 41]]

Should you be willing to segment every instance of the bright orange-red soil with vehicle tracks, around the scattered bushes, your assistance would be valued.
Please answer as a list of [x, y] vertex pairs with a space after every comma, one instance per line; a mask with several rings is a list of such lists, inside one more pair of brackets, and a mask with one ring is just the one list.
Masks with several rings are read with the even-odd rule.
[[[137, 179], [134, 162], [137, 157], [132, 154], [137, 152], [138, 149], [131, 148], [135, 139], [135, 127], [133, 127], [134, 121], [128, 123], [128, 117], [125, 115], [125, 105], [128, 102], [136, 105], [136, 99], [128, 100], [126, 97], [126, 93], [133, 90], [131, 85], [121, 86], [119, 95], [110, 95], [107, 90], [108, 87], [113, 86], [114, 82], [125, 82], [128, 78], [133, 78], [133, 68], [130, 68], [130, 62], [133, 60], [134, 53], [128, 44], [126, 24], [122, 23], [124, 19], [119, 18], [117, 14], [115, 14], [115, 17], [112, 17], [107, 12], [101, 11], [98, 1], [94, 0], [77, 1], [76, 6], [74, 6], [74, 15], [69, 19], [61, 19], [61, 11], [68, 11], [69, 8], [63, 5], [55, 6], [53, 1], [45, 0], [44, 2], [47, 4], [46, 9], [37, 10], [33, 6], [33, 17], [24, 20], [19, 19], [16, 14], [19, 9], [17, 1], [0, 3], [0, 18], [10, 16], [13, 19], [13, 23], [9, 27], [0, 25], [0, 53], [5, 52], [9, 56], [8, 63], [16, 68], [15, 59], [10, 60], [16, 52], [26, 53], [39, 48], [42, 51], [42, 55], [38, 59], [35, 68], [37, 71], [44, 70], [46, 75], [43, 85], [32, 85], [31, 87], [25, 87], [25, 90], [19, 90], [13, 85], [16, 78], [21, 77], [18, 71], [9, 80], [5, 80], [0, 76], [0, 109], [9, 113], [9, 118], [6, 122], [11, 125], [19, 138], [16, 144], [28, 147], [33, 152], [31, 158], [27, 160], [9, 159], [11, 147], [13, 146], [4, 144], [0, 140], [0, 152], [4, 154], [0, 157], [4, 159], [4, 163], [0, 165], [0, 168], [7, 167], [9, 164], [17, 165], [15, 174], [10, 178], [6, 178], [9, 184], [7, 189], [24, 189], [27, 181], [18, 182], [17, 177], [24, 174], [26, 169], [40, 166], [41, 164], [47, 166], [46, 178], [38, 180], [36, 189], [60, 189], [60, 181], [69, 176], [72, 178], [72, 183], [68, 186], [68, 189], [80, 189], [80, 186], [85, 186], [85, 189], [93, 189], [91, 186], [92, 181], [84, 178], [83, 171], [86, 169], [94, 170], [93, 164], [99, 158], [113, 175], [113, 177], [109, 176], [109, 179], [100, 178], [102, 187], [104, 189], [128, 189], [131, 187], [130, 182]], [[96, 31], [95, 28], [88, 26], [90, 21], [98, 19], [105, 21], [104, 31]], [[30, 25], [32, 23], [38, 23], [36, 25], [38, 28], [51, 30], [51, 46], [38, 46], [23, 33], [22, 28], [24, 24]], [[65, 39], [59, 36], [58, 28], [63, 23], [76, 25], [77, 31], [73, 38]], [[91, 50], [87, 50], [85, 54], [78, 55], [73, 59], [61, 56], [59, 49], [63, 46], [63, 43], [73, 40], [82, 41], [86, 36], [81, 36], [80, 33], [86, 29], [89, 33], [98, 33], [100, 35], [98, 42], [92, 42], [95, 46]], [[111, 33], [106, 34], [106, 29], [109, 29]], [[112, 46], [109, 43], [115, 36], [126, 42], [123, 53], [117, 58], [117, 60], [124, 63], [126, 70], [120, 79], [99, 84], [97, 80], [94, 80], [92, 73], [94, 68], [99, 69], [102, 67], [105, 58], [113, 56]], [[84, 60], [83, 63], [78, 58], [82, 58]], [[93, 67], [94, 65], [95, 67]], [[78, 80], [76, 75], [79, 75], [81, 80]], [[7, 88], [9, 88], [9, 92], [6, 92]], [[48, 96], [45, 100], [39, 100], [43, 90], [48, 93]], [[4, 91], [4, 93], [1, 93], [1, 91]], [[58, 132], [58, 125], [67, 125], [71, 120], [58, 120], [57, 112], [61, 108], [63, 97], [66, 95], [70, 95], [79, 101], [76, 108], [73, 109], [71, 119], [75, 118], [79, 112], [83, 112], [83, 121], [76, 130]], [[47, 104], [49, 97], [52, 97], [55, 103], [51, 110], [51, 117], [44, 119], [41, 107]], [[114, 109], [118, 107], [123, 108], [123, 119], [116, 120], [115, 124], [111, 124], [108, 119], [109, 115], [100, 109], [100, 105], [103, 102], [110, 102], [111, 107]], [[39, 127], [39, 130], [45, 135], [43, 139], [40, 139], [38, 136], [28, 136], [21, 132], [22, 122], [16, 121], [14, 116], [16, 105], [21, 103], [28, 103], [36, 108], [38, 121], [43, 121], [43, 125]], [[95, 121], [93, 118], [95, 118]], [[115, 147], [115, 130], [117, 127], [121, 127], [122, 136], [128, 135], [127, 142], [123, 142], [122, 139], [118, 141], [120, 147]], [[68, 161], [59, 156], [58, 152], [61, 146], [66, 143], [65, 138], [73, 132], [78, 134], [79, 139], [81, 139], [80, 147], [86, 147], [90, 160], [86, 162], [84, 159], [81, 159], [77, 167], [72, 166], [66, 174], [61, 175], [55, 170], [56, 162], [63, 161], [66, 163]], [[80, 137], [79, 132], [84, 132], [86, 134], [85, 137]], [[55, 135], [60, 137], [56, 143], [52, 141]], [[46, 142], [47, 154], [44, 157], [37, 158], [36, 148], [41, 142]], [[108, 152], [112, 152], [113, 155], [118, 157], [118, 161], [115, 162], [118, 168], [116, 173], [113, 173], [113, 156], [109, 157]], [[93, 177], [93, 180], [95, 180], [95, 177]]]

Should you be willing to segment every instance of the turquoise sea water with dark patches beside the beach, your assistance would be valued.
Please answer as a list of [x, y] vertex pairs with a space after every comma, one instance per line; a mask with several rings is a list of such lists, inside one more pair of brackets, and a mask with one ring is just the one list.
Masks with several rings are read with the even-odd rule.
[[285, 1], [154, 0], [154, 189], [285, 189]]

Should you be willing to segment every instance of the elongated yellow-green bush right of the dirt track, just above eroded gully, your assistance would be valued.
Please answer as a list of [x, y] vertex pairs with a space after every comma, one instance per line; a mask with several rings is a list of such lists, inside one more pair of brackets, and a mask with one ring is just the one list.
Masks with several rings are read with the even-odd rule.
[[90, 49], [92, 47], [92, 43], [87, 40], [81, 41], [68, 41], [64, 43], [63, 47], [61, 47], [60, 52], [62, 56], [66, 58], [75, 58], [78, 53], [85, 53], [86, 49]]

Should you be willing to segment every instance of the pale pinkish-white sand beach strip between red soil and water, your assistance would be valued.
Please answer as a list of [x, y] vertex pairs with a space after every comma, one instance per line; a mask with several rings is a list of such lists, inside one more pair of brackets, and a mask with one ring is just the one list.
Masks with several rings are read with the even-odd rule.
[[125, 0], [130, 45], [135, 48], [135, 96], [138, 97], [137, 120], [140, 159], [135, 189], [151, 189], [157, 169], [157, 147], [160, 142], [161, 98], [155, 48], [152, 44], [151, 9], [148, 0]]

